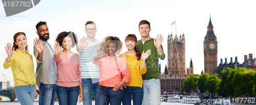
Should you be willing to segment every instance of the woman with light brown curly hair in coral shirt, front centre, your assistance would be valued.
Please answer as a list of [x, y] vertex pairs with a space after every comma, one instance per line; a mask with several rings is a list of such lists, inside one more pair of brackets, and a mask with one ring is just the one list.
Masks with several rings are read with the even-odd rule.
[[93, 63], [99, 65], [98, 105], [121, 104], [123, 86], [130, 81], [130, 72], [126, 61], [117, 57], [122, 49], [122, 42], [117, 37], [106, 37], [100, 45]]

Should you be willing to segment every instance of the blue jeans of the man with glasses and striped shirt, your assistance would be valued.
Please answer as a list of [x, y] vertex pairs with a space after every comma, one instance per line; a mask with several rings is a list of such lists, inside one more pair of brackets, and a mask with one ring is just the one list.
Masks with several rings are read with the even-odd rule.
[[82, 78], [83, 105], [92, 105], [92, 94], [94, 93], [95, 105], [98, 103], [100, 86], [92, 82], [91, 78]]

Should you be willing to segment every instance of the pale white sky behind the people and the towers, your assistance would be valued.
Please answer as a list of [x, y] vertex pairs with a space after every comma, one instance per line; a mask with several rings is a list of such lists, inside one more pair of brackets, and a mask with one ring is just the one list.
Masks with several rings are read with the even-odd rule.
[[[74, 32], [80, 39], [86, 36], [84, 24], [87, 21], [96, 23], [95, 38], [103, 40], [106, 36], [116, 36], [124, 42], [128, 34], [135, 34], [141, 39], [138, 24], [141, 20], [151, 23], [150, 37], [163, 36], [165, 59], [159, 63], [164, 72], [167, 64], [168, 33], [185, 35], [186, 67], [193, 60], [194, 73], [200, 74], [204, 69], [203, 41], [207, 33], [207, 25], [211, 18], [214, 33], [218, 40], [218, 64], [221, 58], [238, 56], [243, 63], [244, 55], [256, 57], [255, 32], [256, 7], [254, 1], [40, 1], [33, 8], [22, 13], [6, 17], [3, 5], [0, 5], [0, 64], [7, 58], [5, 46], [13, 43], [17, 32], [26, 34], [29, 52], [33, 56], [34, 71], [36, 61], [33, 55], [33, 39], [38, 37], [35, 25], [46, 21], [53, 46], [56, 36], [63, 31]], [[176, 25], [170, 23], [176, 20]], [[72, 49], [76, 52], [75, 47]], [[127, 51], [123, 44], [122, 52]], [[121, 52], [121, 53], [122, 53]], [[11, 68], [0, 67], [0, 81], [10, 81], [14, 86]]]

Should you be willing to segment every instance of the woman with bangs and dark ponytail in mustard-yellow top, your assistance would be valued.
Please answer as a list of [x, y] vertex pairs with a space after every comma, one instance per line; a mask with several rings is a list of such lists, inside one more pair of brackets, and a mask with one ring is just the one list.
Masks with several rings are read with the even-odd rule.
[[123, 105], [131, 105], [133, 96], [133, 104], [142, 104], [143, 88], [142, 74], [146, 73], [145, 60], [151, 55], [151, 50], [148, 49], [145, 53], [137, 50], [137, 37], [134, 34], [129, 34], [125, 38], [125, 45], [128, 51], [121, 54], [119, 57], [124, 58], [130, 70], [131, 80], [123, 88]]

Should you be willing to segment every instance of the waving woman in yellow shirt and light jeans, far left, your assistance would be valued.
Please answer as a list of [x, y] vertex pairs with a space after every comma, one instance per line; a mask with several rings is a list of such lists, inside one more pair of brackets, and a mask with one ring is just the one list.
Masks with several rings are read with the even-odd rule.
[[[20, 104], [33, 104], [38, 94], [35, 90], [35, 74], [32, 55], [29, 54], [25, 33], [18, 32], [13, 37], [14, 42], [7, 43], [5, 47], [8, 57], [5, 59], [4, 68], [12, 68], [14, 78], [14, 92]], [[44, 47], [37, 48], [37, 51]]]

